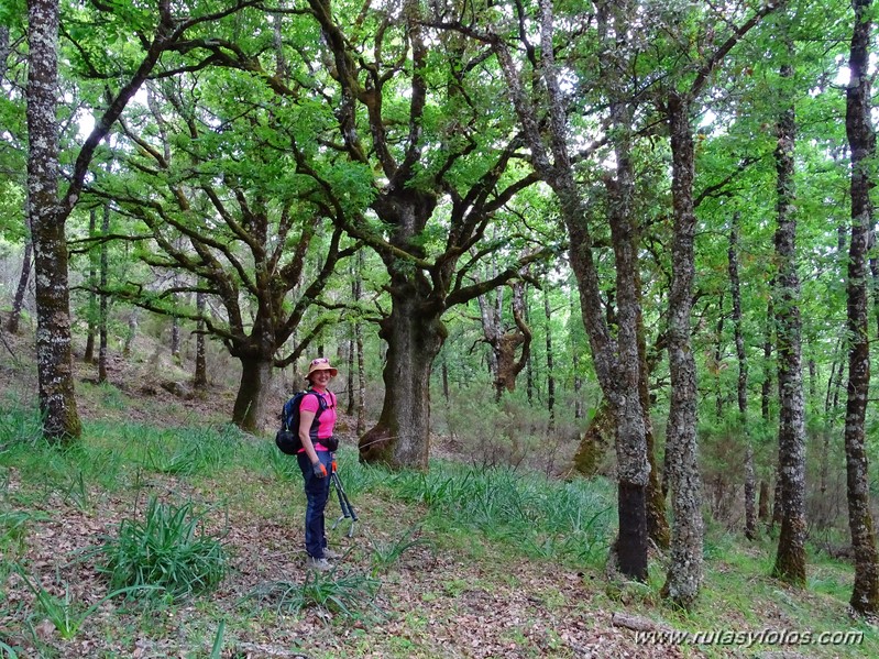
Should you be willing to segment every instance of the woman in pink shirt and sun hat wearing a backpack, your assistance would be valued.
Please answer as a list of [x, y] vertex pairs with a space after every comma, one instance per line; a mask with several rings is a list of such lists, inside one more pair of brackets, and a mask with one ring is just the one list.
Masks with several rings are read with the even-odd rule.
[[332, 443], [336, 426], [336, 394], [327, 389], [332, 377], [339, 372], [330, 365], [330, 360], [320, 356], [308, 367], [309, 391], [315, 396], [303, 396], [299, 405], [299, 439], [303, 448], [297, 459], [305, 480], [305, 494], [308, 505], [305, 512], [305, 549], [308, 552], [306, 567], [312, 570], [331, 570], [327, 559], [339, 558], [339, 553], [327, 549], [323, 508], [330, 496], [330, 474], [332, 473], [332, 452], [327, 444]]

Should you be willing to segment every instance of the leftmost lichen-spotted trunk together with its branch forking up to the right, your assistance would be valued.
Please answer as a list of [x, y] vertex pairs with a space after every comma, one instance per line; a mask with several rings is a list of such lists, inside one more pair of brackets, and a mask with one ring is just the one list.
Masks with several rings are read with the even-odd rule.
[[[36, 276], [36, 361], [43, 433], [77, 438], [81, 433], [74, 391], [70, 348], [68, 254], [64, 226], [79, 200], [95, 151], [128, 101], [158, 62], [169, 40], [194, 23], [175, 22], [169, 0], [160, 0], [158, 22], [136, 72], [110, 100], [77, 154], [63, 198], [58, 198], [58, 0], [29, 0], [28, 190]], [[176, 30], [176, 32], [175, 32]]]

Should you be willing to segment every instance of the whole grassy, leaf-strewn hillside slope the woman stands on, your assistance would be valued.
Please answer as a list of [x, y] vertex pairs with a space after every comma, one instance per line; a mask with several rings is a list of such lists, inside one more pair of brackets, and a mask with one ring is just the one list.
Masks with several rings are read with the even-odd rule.
[[[666, 557], [647, 584], [605, 573], [613, 484], [441, 461], [393, 474], [358, 464], [350, 437], [340, 474], [360, 520], [329, 532], [345, 552], [337, 571], [306, 576], [297, 468], [268, 435], [226, 425], [228, 387], [175, 395], [162, 385], [185, 385], [185, 371], [154, 347], [114, 358], [105, 385], [78, 364], [85, 436], [53, 448], [39, 439], [28, 341], [4, 341], [0, 657], [4, 645], [20, 657], [879, 656], [875, 629], [847, 617], [845, 564], [814, 557], [810, 591], [792, 591], [767, 576], [771, 539], [745, 547], [712, 529], [703, 598], [683, 614], [659, 595]], [[99, 548], [145, 524], [150, 502], [191, 509], [223, 548], [222, 580], [101, 602]]]

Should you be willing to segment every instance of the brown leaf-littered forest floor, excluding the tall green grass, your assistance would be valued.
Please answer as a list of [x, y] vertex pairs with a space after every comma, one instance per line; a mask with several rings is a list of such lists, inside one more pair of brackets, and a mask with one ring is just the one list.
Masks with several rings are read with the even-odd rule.
[[[1, 417], [13, 407], [33, 406], [36, 385], [25, 341], [4, 334], [0, 350]], [[114, 358], [111, 386], [91, 384], [95, 367], [81, 360], [77, 369], [84, 441], [95, 455], [112, 451], [113, 442], [132, 441], [130, 433], [113, 435], [116, 425], [219, 426], [230, 415], [231, 389], [215, 386], [195, 396], [185, 386], [167, 386], [184, 382], [185, 374], [164, 359]], [[246, 436], [246, 441], [264, 444], [271, 438]], [[354, 439], [345, 441], [351, 447]], [[447, 526], [425, 504], [399, 501], [381, 488], [356, 492], [353, 503], [361, 519], [352, 537], [345, 534], [349, 520], [329, 532], [331, 545], [345, 556], [323, 583], [369, 590], [369, 605], [356, 615], [343, 615], [332, 601], [288, 611], [278, 604], [278, 589], [300, 592], [308, 585], [296, 477], [231, 466], [198, 475], [138, 469], [122, 479], [128, 479], [122, 487], [83, 481], [81, 471], [79, 481], [46, 476], [32, 482], [29, 474], [35, 468], [26, 463], [26, 453], [4, 458], [7, 449], [0, 446], [0, 551], [6, 553], [0, 556], [0, 657], [879, 656], [876, 629], [848, 616], [851, 570], [844, 562], [816, 560], [809, 589], [789, 589], [768, 576], [770, 539], [745, 546], [712, 528], [703, 597], [693, 612], [683, 613], [660, 596], [662, 554], [652, 556], [647, 584], [626, 583], [608, 576], [601, 561], [580, 564], [523, 554], [498, 540], [503, 534], [490, 537]], [[40, 473], [50, 474], [55, 465], [46, 461], [54, 459], [41, 454]], [[353, 473], [354, 450], [341, 450], [340, 462], [341, 474], [345, 469]], [[66, 473], [61, 463], [57, 470]], [[136, 517], [147, 496], [215, 506], [210, 524], [224, 529], [230, 557], [218, 589], [184, 603], [101, 602], [108, 585], [87, 550]], [[338, 510], [330, 503], [332, 520]], [[13, 519], [25, 520], [26, 532], [13, 534]], [[380, 550], [407, 537], [410, 546], [376, 569]], [[40, 606], [25, 575], [42, 584], [37, 591], [52, 595], [55, 615]], [[344, 602], [343, 590], [328, 593]], [[58, 606], [74, 623], [72, 634], [70, 626], [67, 634], [59, 629]], [[639, 628], [655, 636], [641, 642]], [[804, 634], [817, 638], [847, 631], [860, 634], [860, 642], [801, 642]], [[691, 636], [673, 641], [663, 636], [675, 633]], [[692, 636], [699, 633], [707, 638]]]

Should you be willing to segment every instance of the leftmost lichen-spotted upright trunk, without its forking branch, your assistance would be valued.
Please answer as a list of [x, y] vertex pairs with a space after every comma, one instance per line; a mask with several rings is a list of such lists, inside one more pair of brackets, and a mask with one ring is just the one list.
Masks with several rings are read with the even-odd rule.
[[28, 190], [36, 271], [36, 359], [43, 433], [69, 440], [83, 432], [76, 408], [67, 241], [58, 202], [57, 0], [30, 0]]

